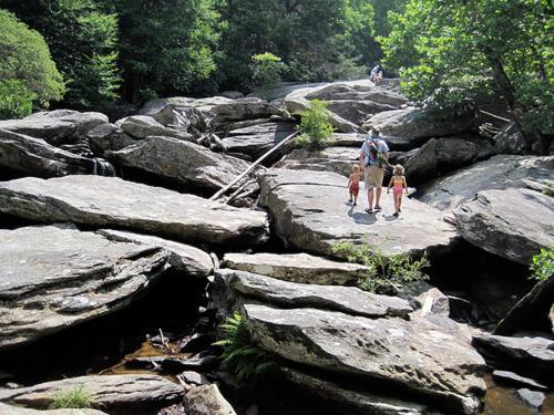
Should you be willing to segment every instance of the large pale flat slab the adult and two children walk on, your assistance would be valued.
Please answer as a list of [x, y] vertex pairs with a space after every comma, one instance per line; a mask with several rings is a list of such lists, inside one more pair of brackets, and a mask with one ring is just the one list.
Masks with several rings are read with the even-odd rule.
[[[348, 205], [347, 179], [334, 173], [269, 169], [259, 181], [259, 203], [274, 216], [277, 236], [305, 251], [335, 255], [336, 242], [365, 241], [386, 255], [433, 255], [449, 250], [456, 239], [440, 211], [413, 199], [404, 199], [398, 220], [386, 194], [381, 214], [368, 215], [361, 206]], [[363, 196], [361, 190], [361, 204]]]

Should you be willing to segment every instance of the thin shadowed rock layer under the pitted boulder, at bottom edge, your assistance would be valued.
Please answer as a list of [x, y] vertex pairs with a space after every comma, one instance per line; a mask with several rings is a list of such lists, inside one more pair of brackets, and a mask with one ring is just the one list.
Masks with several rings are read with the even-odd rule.
[[367, 385], [357, 390], [352, 385], [345, 385], [343, 382], [332, 382], [327, 377], [321, 378], [287, 367], [283, 367], [281, 373], [297, 387], [329, 402], [336, 408], [348, 409], [348, 414], [419, 415], [429, 411], [425, 405], [367, 391], [369, 388]]

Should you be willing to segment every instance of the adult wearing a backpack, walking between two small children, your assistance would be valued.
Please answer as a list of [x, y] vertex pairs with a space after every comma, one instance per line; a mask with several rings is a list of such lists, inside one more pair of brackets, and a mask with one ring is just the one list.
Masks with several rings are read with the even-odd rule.
[[373, 212], [373, 198], [376, 201], [375, 210], [381, 210], [379, 201], [381, 200], [382, 178], [384, 167], [389, 159], [389, 146], [381, 139], [377, 129], [366, 136], [360, 149], [360, 167], [363, 168], [363, 179], [366, 190], [368, 190], [368, 214]]

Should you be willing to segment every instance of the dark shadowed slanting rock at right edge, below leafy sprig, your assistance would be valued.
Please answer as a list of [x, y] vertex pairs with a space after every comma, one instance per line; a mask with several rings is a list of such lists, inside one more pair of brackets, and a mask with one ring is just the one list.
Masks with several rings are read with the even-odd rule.
[[494, 334], [512, 335], [530, 326], [554, 326], [548, 317], [554, 309], [554, 278], [540, 281], [507, 312], [494, 329]]

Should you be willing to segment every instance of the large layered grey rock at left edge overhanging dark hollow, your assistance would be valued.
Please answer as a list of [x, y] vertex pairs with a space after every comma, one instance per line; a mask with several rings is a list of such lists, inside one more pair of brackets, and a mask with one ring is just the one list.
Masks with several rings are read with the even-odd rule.
[[57, 227], [0, 230], [0, 349], [112, 313], [144, 293], [168, 253]]

